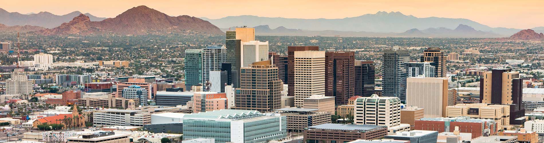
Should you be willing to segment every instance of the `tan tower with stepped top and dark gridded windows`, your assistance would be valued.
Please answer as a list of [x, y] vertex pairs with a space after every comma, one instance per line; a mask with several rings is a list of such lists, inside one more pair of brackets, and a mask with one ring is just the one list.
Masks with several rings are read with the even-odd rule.
[[270, 60], [258, 61], [240, 71], [240, 88], [236, 89], [234, 109], [271, 112], [281, 108], [283, 85], [278, 70]]

